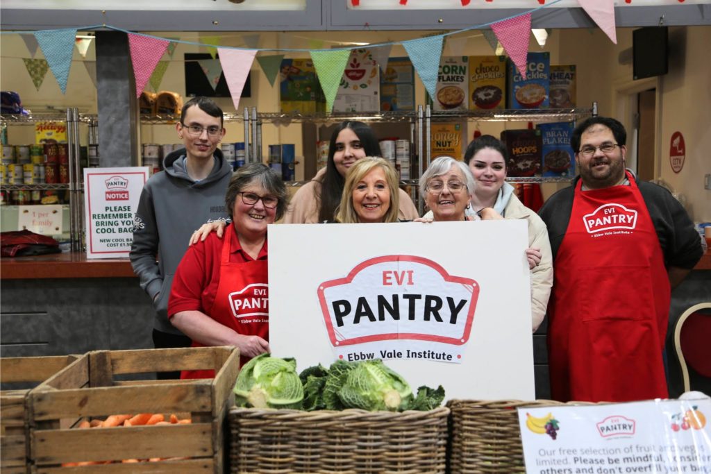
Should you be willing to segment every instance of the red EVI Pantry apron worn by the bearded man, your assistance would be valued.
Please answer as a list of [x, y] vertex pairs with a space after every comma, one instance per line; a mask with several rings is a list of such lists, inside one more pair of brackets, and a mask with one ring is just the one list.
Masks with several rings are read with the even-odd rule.
[[555, 258], [548, 307], [552, 398], [667, 398], [662, 351], [670, 286], [662, 249], [634, 181], [575, 188]]

